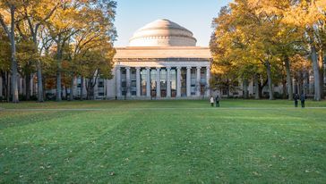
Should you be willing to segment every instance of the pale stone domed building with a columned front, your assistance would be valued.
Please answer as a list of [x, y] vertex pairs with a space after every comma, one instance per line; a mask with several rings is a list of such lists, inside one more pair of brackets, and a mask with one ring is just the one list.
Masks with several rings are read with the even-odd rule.
[[138, 29], [129, 46], [116, 47], [115, 77], [107, 81], [107, 97], [210, 96], [210, 49], [196, 42], [190, 30], [173, 21], [153, 21]]

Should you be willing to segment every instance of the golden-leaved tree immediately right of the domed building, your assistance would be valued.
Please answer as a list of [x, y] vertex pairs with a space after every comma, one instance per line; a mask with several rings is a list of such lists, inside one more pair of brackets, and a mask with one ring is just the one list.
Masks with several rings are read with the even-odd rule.
[[[215, 20], [217, 24], [215, 34], [219, 39], [217, 44], [227, 49], [222, 49], [222, 53], [215, 54], [214, 62], [219, 60], [216, 55], [221, 55], [227, 60], [232, 59], [235, 63], [232, 68], [236, 68], [236, 65], [239, 66], [236, 69], [244, 69], [238, 72], [238, 76], [241, 76], [244, 81], [248, 79], [248, 73], [253, 72], [252, 69], [259, 71], [259, 68], [264, 66], [270, 99], [273, 99], [271, 65], [278, 61], [274, 57], [273, 38], [278, 30], [279, 20], [276, 16], [260, 13], [258, 7], [249, 4], [248, 1], [236, 0], [229, 8], [229, 10], [223, 8]], [[214, 53], [219, 49], [211, 48], [211, 50]], [[257, 67], [251, 67], [253, 65]]]

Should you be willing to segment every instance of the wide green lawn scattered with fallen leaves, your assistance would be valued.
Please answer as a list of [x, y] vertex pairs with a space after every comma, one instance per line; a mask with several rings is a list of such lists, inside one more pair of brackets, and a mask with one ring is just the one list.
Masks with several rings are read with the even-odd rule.
[[0, 183], [325, 183], [326, 102], [0, 104]]

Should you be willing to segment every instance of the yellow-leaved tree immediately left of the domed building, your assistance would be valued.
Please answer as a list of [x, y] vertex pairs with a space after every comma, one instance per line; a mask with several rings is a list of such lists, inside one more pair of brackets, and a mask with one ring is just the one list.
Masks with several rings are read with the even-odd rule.
[[[73, 79], [88, 78], [88, 97], [93, 96], [93, 88], [99, 78], [111, 79], [113, 65], [113, 40], [116, 29], [113, 25], [116, 3], [114, 1], [95, 2], [79, 12], [79, 31], [68, 40], [68, 75], [71, 79], [70, 100], [73, 100]], [[100, 69], [100, 70], [99, 70]]]

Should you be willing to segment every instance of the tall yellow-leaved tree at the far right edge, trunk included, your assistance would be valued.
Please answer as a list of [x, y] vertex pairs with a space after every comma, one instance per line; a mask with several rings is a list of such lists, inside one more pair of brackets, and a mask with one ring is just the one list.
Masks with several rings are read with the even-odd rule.
[[287, 9], [287, 23], [305, 29], [303, 36], [310, 47], [310, 57], [313, 63], [314, 100], [322, 100], [323, 79], [321, 75], [323, 50], [325, 46], [325, 11], [323, 0], [300, 0]]

